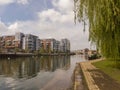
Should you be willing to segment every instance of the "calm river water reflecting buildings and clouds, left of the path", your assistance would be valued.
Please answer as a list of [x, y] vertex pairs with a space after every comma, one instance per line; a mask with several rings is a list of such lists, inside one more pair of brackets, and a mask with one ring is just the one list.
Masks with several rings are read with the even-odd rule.
[[0, 90], [68, 90], [75, 56], [41, 56], [0, 59]]

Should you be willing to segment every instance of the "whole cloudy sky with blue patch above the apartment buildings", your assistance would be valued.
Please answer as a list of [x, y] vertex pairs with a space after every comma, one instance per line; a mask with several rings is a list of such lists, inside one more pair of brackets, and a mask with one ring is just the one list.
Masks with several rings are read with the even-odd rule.
[[90, 48], [88, 25], [74, 23], [74, 0], [0, 0], [0, 36], [15, 32], [40, 39], [67, 38], [71, 50]]

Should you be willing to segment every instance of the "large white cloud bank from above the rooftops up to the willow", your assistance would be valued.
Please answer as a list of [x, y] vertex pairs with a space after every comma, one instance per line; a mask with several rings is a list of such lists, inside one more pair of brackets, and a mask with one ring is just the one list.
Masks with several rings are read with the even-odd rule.
[[72, 2], [72, 0], [52, 0], [53, 8], [37, 12], [38, 20], [17, 21], [9, 26], [5, 26], [3, 23], [1, 27], [6, 29], [7, 34], [21, 31], [35, 34], [41, 39], [49, 37], [58, 40], [68, 38], [71, 41], [72, 50], [89, 47], [88, 31], [83, 33], [83, 25], [74, 24]]

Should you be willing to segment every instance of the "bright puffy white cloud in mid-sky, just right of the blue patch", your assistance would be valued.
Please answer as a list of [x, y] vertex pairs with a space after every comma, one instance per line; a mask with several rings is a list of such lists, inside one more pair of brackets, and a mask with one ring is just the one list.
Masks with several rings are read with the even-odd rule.
[[51, 21], [53, 23], [71, 23], [73, 22], [73, 13], [62, 14], [54, 9], [48, 9], [43, 12], [39, 12], [38, 16], [41, 21]]

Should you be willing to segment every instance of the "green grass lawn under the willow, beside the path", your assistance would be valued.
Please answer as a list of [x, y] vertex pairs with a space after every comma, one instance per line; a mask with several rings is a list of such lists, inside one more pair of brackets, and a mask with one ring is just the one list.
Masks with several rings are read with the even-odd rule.
[[92, 64], [120, 83], [120, 69], [115, 67], [113, 60], [102, 60]]

